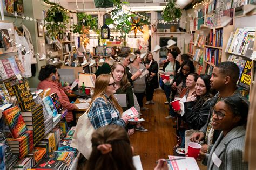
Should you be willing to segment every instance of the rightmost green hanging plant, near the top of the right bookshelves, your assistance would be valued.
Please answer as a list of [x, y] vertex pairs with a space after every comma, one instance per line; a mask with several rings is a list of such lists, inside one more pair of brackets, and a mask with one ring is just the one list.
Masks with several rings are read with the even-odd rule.
[[177, 7], [178, 5], [173, 0], [168, 0], [163, 12], [162, 17], [166, 22], [176, 20], [182, 15], [181, 9]]

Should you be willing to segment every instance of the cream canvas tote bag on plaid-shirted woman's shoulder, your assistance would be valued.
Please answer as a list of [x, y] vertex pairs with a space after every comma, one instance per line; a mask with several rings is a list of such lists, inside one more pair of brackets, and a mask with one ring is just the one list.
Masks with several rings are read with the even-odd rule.
[[[97, 97], [99, 98], [99, 97]], [[103, 97], [100, 97], [103, 98]], [[96, 98], [95, 98], [96, 100]], [[76, 148], [80, 153], [84, 155], [86, 159], [89, 159], [92, 152], [92, 133], [95, 132], [95, 128], [92, 126], [90, 119], [88, 118], [88, 112], [91, 109], [93, 101], [91, 102], [87, 111], [78, 118], [77, 126], [70, 147]]]

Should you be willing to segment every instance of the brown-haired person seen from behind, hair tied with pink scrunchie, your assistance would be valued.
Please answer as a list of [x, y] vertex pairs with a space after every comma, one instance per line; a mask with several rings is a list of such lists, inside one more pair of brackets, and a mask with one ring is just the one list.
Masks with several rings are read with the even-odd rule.
[[[85, 170], [135, 170], [133, 147], [124, 128], [108, 125], [92, 134], [92, 153], [86, 161]], [[165, 159], [159, 159], [154, 170], [167, 170]]]

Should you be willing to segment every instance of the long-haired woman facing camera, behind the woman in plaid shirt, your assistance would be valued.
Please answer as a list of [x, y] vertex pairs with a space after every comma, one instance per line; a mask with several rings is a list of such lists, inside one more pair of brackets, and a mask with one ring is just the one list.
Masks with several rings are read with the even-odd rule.
[[[129, 83], [126, 75], [126, 69], [120, 62], [114, 63], [112, 67], [112, 77], [116, 82], [116, 93], [115, 94], [126, 94], [126, 107], [122, 107], [123, 111], [134, 106], [134, 95], [131, 84]], [[117, 97], [118, 98], [118, 97]], [[137, 102], [137, 101], [136, 101]], [[134, 133], [134, 125], [128, 124], [127, 127], [129, 129], [129, 134]], [[143, 126], [138, 123], [136, 124], [136, 130], [147, 132], [147, 129], [143, 128]]]

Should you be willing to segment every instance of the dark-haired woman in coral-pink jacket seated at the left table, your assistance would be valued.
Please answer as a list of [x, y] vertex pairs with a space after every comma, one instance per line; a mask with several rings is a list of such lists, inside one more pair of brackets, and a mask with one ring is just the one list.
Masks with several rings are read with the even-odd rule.
[[65, 91], [62, 89], [60, 84], [56, 82], [56, 79], [58, 79], [58, 74], [57, 68], [53, 65], [46, 65], [44, 68], [41, 68], [38, 76], [40, 82], [37, 89], [45, 90], [50, 88], [50, 94], [57, 93], [63, 109], [68, 110], [68, 113], [66, 114], [66, 122], [69, 126], [76, 126], [76, 121], [73, 118], [72, 110], [77, 109], [77, 107], [75, 104], [69, 102], [69, 98]]

